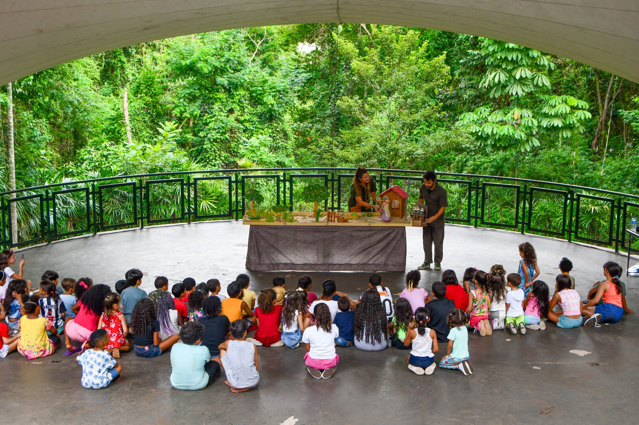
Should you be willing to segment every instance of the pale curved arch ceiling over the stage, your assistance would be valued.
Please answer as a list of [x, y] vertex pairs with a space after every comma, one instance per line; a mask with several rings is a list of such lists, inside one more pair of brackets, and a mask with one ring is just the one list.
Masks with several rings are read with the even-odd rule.
[[636, 0], [3, 0], [0, 85], [144, 41], [315, 22], [406, 25], [485, 36], [639, 82]]

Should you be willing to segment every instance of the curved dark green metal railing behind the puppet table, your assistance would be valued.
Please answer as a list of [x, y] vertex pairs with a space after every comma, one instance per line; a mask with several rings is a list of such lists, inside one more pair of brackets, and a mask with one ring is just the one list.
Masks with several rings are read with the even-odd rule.
[[[261, 207], [311, 210], [302, 188], [326, 185], [324, 208], [347, 210], [355, 168], [262, 168], [114, 176], [29, 187], [0, 195], [0, 245], [26, 247], [81, 234], [154, 224], [238, 220], [245, 190], [263, 194]], [[378, 192], [399, 184], [412, 205], [422, 171], [369, 169]], [[626, 229], [639, 215], [639, 196], [509, 177], [439, 173], [448, 191], [447, 222], [509, 229], [627, 250]], [[17, 233], [12, 229], [17, 214]], [[633, 246], [633, 250], [637, 247]]]

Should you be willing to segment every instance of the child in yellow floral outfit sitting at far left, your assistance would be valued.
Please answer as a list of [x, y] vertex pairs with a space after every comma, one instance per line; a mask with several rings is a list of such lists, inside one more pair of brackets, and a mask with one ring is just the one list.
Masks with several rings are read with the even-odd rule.
[[[22, 307], [26, 315], [20, 317], [18, 328], [20, 329], [20, 342], [18, 352], [27, 359], [46, 357], [56, 350], [55, 342], [47, 338], [47, 331], [59, 341], [58, 329], [53, 326], [46, 317], [38, 317], [40, 306], [38, 297], [29, 297], [29, 301]], [[56, 342], [57, 342], [56, 341]]]

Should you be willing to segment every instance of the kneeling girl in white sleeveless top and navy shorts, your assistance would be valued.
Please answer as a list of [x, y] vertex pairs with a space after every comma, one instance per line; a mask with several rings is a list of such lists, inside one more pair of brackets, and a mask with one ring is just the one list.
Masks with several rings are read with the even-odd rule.
[[417, 375], [432, 375], [435, 371], [435, 353], [439, 350], [435, 329], [426, 327], [431, 320], [426, 307], [420, 307], [415, 312], [415, 321], [408, 324], [408, 332], [404, 338], [404, 345], [410, 343], [413, 349], [408, 354], [406, 364]]

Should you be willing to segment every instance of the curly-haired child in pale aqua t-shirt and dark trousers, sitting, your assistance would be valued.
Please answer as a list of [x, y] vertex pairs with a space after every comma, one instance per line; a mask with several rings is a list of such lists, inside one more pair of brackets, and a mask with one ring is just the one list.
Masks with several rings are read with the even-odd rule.
[[180, 329], [180, 342], [171, 349], [171, 385], [176, 389], [203, 389], [220, 375], [220, 364], [211, 361], [202, 343], [204, 326], [187, 322]]

